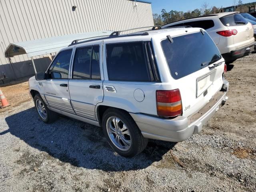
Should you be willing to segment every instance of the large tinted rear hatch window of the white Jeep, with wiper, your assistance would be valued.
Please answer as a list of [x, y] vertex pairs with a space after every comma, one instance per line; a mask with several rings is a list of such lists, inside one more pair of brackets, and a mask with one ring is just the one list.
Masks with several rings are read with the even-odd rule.
[[174, 79], [196, 72], [221, 58], [218, 48], [207, 33], [202, 35], [197, 32], [172, 39], [173, 43], [166, 39], [161, 44]]

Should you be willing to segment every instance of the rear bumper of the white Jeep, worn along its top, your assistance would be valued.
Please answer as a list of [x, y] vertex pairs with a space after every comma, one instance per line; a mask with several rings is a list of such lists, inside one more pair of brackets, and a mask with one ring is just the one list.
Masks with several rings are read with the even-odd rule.
[[[222, 89], [228, 90], [228, 82]], [[145, 114], [130, 113], [145, 138], [180, 142], [192, 134], [199, 133], [202, 126], [214, 116], [220, 106], [226, 101], [226, 92], [219, 91], [202, 109], [189, 117], [178, 116], [174, 119], [163, 119]]]

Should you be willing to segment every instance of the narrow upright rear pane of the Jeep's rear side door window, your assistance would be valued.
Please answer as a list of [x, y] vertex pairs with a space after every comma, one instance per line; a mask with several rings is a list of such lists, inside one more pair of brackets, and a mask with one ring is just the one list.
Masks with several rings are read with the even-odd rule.
[[92, 79], [100, 79], [100, 47], [94, 46], [92, 52]]

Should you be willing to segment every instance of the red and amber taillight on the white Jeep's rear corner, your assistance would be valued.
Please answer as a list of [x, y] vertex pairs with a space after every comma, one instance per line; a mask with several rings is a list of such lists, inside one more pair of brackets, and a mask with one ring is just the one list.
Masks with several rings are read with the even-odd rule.
[[180, 90], [157, 90], [156, 107], [159, 116], [175, 117], [182, 114]]

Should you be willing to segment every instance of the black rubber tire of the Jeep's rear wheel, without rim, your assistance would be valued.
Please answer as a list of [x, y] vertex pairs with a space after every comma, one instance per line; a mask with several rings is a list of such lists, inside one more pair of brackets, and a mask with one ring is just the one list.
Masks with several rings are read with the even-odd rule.
[[[132, 142], [130, 148], [126, 151], [117, 148], [108, 134], [107, 121], [113, 116], [119, 118], [126, 125], [128, 131], [130, 132], [130, 140]], [[102, 117], [102, 127], [108, 143], [121, 156], [133, 157], [142, 152], [148, 144], [148, 139], [142, 136], [141, 131], [137, 124], [134, 122], [133, 118], [130, 116], [130, 114], [128, 114], [128, 112], [124, 110], [119, 110], [116, 108], [107, 109]]]

